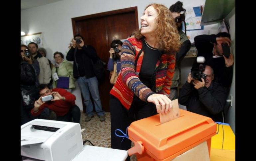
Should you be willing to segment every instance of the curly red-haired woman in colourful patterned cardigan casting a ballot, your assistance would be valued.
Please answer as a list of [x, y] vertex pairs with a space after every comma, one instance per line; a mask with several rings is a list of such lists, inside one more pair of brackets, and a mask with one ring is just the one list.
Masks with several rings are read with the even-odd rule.
[[[161, 4], [146, 7], [141, 29], [135, 38], [123, 42], [121, 74], [110, 91], [111, 148], [127, 150], [131, 141], [115, 136], [134, 120], [172, 108], [171, 79], [175, 69], [175, 52], [181, 46], [176, 24], [168, 8]], [[129, 158], [128, 158], [129, 160]]]

